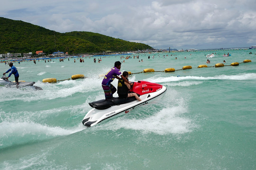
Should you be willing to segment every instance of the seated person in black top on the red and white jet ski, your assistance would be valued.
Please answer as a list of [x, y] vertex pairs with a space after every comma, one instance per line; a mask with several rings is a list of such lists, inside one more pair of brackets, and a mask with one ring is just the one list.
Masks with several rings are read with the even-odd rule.
[[[128, 72], [127, 71], [124, 71], [123, 72], [123, 76], [124, 78], [128, 80]], [[135, 98], [138, 100], [138, 101], [141, 101], [141, 99], [139, 98], [139, 96], [137, 95], [137, 93], [128, 93], [128, 91], [131, 89], [131, 86], [130, 84], [126, 83], [124, 81], [123, 78], [119, 79], [118, 80], [118, 96], [120, 98], [128, 98], [128, 97], [133, 97], [135, 96]]]

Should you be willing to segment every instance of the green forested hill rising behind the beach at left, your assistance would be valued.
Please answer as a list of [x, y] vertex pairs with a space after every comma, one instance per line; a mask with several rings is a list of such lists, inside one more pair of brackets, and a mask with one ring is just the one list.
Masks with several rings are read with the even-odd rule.
[[0, 53], [55, 51], [73, 53], [102, 51], [137, 51], [151, 49], [149, 45], [128, 42], [91, 32], [58, 33], [41, 26], [0, 17]]

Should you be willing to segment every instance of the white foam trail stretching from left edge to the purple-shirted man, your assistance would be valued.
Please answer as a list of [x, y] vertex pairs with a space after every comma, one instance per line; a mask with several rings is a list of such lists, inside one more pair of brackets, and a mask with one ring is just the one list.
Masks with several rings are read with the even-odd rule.
[[[75, 93], [95, 92], [99, 89], [102, 89], [101, 79], [98, 78], [65, 80], [56, 84], [42, 83], [38, 81], [35, 85], [41, 87], [43, 90], [24, 90], [0, 87], [4, 89], [0, 91], [0, 102], [13, 100], [21, 100], [24, 102], [52, 100], [56, 98], [65, 98], [67, 96], [72, 96]], [[11, 95], [11, 93], [15, 93], [15, 95]]]

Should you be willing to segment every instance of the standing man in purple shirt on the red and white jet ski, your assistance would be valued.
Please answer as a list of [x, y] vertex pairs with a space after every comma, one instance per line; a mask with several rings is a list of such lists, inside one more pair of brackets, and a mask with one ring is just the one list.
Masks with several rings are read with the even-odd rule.
[[124, 81], [126, 83], [128, 83], [128, 85], [131, 85], [128, 80], [122, 75], [121, 71], [121, 62], [120, 61], [116, 61], [115, 65], [113, 68], [111, 68], [106, 75], [104, 76], [101, 86], [104, 90], [105, 93], [105, 99], [110, 99], [113, 97], [113, 94], [117, 91], [116, 87], [114, 85], [111, 84], [111, 82], [117, 78], [120, 79], [119, 76], [121, 76], [121, 78], [124, 79]]

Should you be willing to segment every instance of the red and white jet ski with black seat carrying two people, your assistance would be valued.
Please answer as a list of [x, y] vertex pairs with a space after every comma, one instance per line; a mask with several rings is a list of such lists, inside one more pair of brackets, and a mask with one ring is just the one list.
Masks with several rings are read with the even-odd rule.
[[138, 81], [134, 82], [130, 91], [137, 93], [142, 101], [139, 102], [135, 97], [112, 97], [110, 99], [90, 102], [89, 105], [93, 109], [85, 115], [82, 124], [86, 127], [92, 127], [102, 121], [128, 113], [137, 106], [145, 105], [165, 93], [166, 87], [156, 83]]

